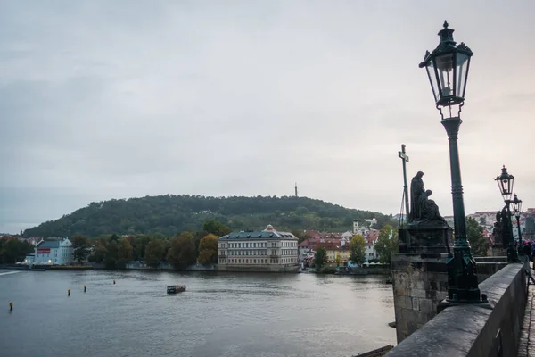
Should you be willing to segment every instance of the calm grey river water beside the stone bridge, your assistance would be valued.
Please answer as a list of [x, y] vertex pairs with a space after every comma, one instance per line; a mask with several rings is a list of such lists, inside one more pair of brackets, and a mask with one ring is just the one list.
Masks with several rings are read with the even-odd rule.
[[396, 339], [384, 277], [6, 272], [0, 356], [350, 357]]

